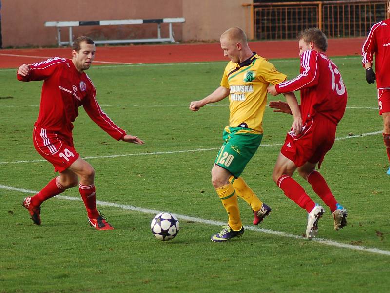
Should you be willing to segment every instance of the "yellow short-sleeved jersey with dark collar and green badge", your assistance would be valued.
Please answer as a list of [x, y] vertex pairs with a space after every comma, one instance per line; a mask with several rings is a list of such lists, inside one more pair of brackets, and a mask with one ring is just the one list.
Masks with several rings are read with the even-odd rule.
[[267, 104], [267, 86], [286, 80], [286, 75], [256, 53], [249, 59], [228, 63], [221, 86], [230, 89], [229, 126], [246, 127], [263, 133], [262, 121]]

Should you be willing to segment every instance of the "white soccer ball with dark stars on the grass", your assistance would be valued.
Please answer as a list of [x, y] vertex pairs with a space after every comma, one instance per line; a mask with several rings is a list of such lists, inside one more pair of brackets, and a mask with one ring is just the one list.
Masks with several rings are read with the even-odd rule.
[[150, 228], [158, 240], [168, 241], [176, 237], [180, 224], [175, 215], [161, 212], [153, 218]]

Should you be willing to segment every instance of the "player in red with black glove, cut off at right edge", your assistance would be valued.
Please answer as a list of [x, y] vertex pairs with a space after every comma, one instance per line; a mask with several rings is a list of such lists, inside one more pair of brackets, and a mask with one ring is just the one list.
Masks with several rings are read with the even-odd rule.
[[[390, 14], [390, 1], [387, 1], [387, 12]], [[383, 118], [383, 141], [390, 161], [390, 19], [375, 23], [363, 44], [363, 67], [366, 69], [366, 80], [378, 89], [379, 115]], [[375, 54], [375, 71], [372, 69]], [[390, 167], [387, 171], [390, 175]]]

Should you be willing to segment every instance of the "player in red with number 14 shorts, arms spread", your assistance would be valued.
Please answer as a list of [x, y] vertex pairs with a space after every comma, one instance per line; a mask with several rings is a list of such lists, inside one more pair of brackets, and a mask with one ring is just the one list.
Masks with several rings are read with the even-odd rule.
[[126, 134], [100, 108], [95, 98], [95, 87], [84, 72], [91, 66], [95, 51], [95, 44], [90, 38], [79, 37], [73, 44], [72, 59], [55, 57], [23, 64], [18, 69], [20, 81], [44, 81], [33, 141], [38, 153], [59, 172], [59, 176], [35, 196], [23, 201], [22, 205], [37, 225], [41, 223], [40, 206], [45, 200], [78, 185], [89, 224], [97, 230], [114, 229], [96, 209], [95, 170], [73, 146], [72, 122], [78, 116], [79, 106], [83, 106], [88, 116], [116, 140], [144, 144], [137, 136]]

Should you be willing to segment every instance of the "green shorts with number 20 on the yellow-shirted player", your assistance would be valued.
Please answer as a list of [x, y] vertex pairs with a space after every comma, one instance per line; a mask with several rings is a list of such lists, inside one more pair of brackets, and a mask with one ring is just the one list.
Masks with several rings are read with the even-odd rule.
[[255, 133], [250, 128], [228, 126], [225, 127], [222, 138], [224, 143], [216, 156], [215, 165], [238, 178], [260, 146], [263, 134]]

